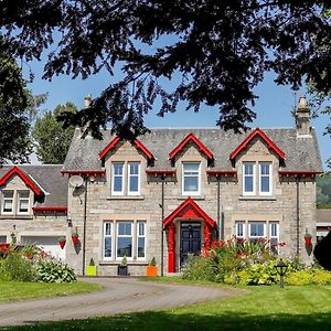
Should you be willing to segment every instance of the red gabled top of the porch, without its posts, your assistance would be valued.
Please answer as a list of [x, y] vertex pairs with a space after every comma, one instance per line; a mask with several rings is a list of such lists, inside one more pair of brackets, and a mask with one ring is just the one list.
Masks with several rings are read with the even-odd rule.
[[181, 203], [168, 217], [163, 220], [163, 225], [167, 227], [172, 223], [175, 217], [195, 218], [202, 217], [205, 222], [215, 227], [216, 223], [212, 220], [191, 196], [189, 196], [183, 203]]

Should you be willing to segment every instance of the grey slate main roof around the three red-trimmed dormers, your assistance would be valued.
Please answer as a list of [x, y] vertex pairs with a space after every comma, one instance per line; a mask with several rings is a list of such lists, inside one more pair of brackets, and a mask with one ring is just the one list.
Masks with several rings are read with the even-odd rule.
[[[261, 130], [285, 152], [286, 161], [282, 170], [323, 171], [318, 140], [313, 129], [310, 137], [298, 136], [295, 128], [268, 128]], [[150, 134], [140, 136], [138, 139], [156, 157], [153, 170], [171, 170], [169, 152], [189, 134], [193, 134], [211, 150], [215, 158], [214, 170], [233, 170], [228, 157], [250, 131], [236, 135], [233, 131], [224, 131], [218, 128], [151, 129]], [[79, 129], [76, 129], [63, 170], [102, 170], [102, 160], [98, 154], [115, 138], [109, 130], [104, 130], [103, 136], [103, 140], [93, 139], [90, 136], [82, 139]]]

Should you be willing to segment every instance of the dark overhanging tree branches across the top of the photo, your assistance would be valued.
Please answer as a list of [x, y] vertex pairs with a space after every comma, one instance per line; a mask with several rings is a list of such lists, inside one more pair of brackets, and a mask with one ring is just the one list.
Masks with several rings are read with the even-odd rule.
[[[266, 71], [293, 89], [302, 79], [330, 89], [329, 0], [2, 0], [6, 49], [26, 61], [49, 47], [44, 78], [74, 78], [121, 67], [89, 108], [65, 114], [100, 137], [109, 122], [125, 138], [143, 134], [157, 99], [159, 115], [179, 102], [199, 111], [217, 106], [217, 125], [236, 131], [255, 117], [254, 87]], [[54, 32], [58, 32], [54, 35]], [[54, 38], [55, 36], [55, 38]], [[54, 43], [54, 39], [56, 41]], [[321, 75], [322, 72], [324, 75]], [[162, 78], [171, 79], [166, 90]]]

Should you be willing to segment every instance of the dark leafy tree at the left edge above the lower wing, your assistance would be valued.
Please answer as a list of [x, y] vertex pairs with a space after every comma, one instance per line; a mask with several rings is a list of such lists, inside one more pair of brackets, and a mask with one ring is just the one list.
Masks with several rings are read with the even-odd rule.
[[0, 35], [0, 164], [26, 162], [32, 151], [26, 113], [29, 97], [21, 70], [1, 50]]

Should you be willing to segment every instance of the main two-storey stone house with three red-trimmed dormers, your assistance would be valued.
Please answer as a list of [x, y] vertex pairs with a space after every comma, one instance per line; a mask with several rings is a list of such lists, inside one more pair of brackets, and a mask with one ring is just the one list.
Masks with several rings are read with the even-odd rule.
[[322, 167], [305, 98], [295, 128], [152, 129], [132, 142], [109, 130], [103, 137], [82, 139], [76, 129], [61, 169], [67, 214], [43, 215], [50, 226], [63, 217], [65, 259], [78, 273], [93, 258], [99, 275], [116, 275], [124, 256], [131, 275], [143, 275], [152, 257], [160, 274], [175, 273], [189, 254], [232, 236], [268, 238], [279, 254], [311, 260], [303, 236], [316, 237]]

